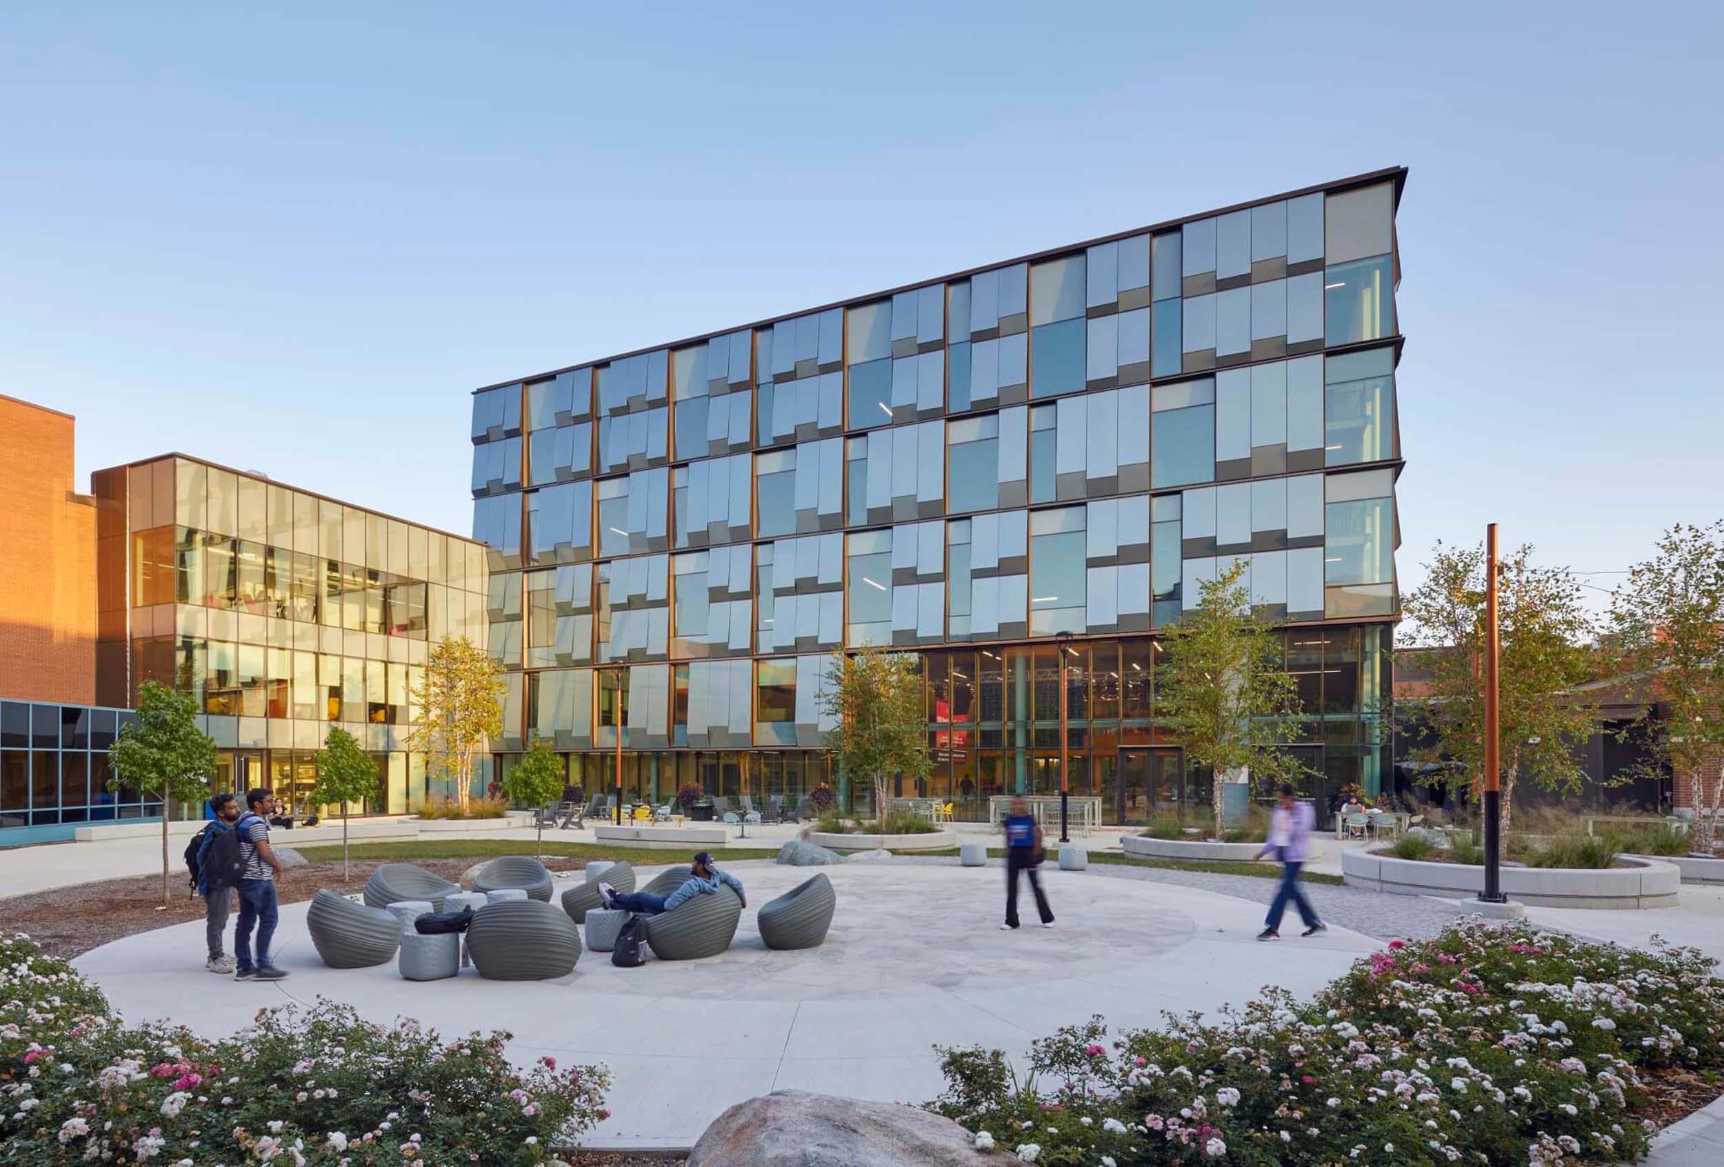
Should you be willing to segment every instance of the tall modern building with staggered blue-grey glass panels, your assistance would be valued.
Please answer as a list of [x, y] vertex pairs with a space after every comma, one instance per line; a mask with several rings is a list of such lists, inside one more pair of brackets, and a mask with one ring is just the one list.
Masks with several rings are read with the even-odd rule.
[[1207, 805], [1157, 629], [1236, 559], [1286, 621], [1314, 795], [1388, 771], [1400, 440], [1390, 169], [474, 395], [505, 753], [664, 800], [829, 774], [829, 655], [919, 653], [934, 776]]

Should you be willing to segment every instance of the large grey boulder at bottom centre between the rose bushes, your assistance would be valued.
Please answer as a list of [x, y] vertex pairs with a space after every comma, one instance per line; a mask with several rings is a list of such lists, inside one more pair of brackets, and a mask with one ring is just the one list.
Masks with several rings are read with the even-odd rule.
[[986, 1158], [957, 1122], [915, 1107], [778, 1089], [714, 1119], [688, 1167], [945, 1167]]

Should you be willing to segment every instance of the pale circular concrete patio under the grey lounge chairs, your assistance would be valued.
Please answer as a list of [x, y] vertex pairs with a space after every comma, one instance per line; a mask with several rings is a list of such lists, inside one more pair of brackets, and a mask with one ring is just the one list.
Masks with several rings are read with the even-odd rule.
[[[1022, 1055], [1033, 1038], [1102, 1014], [1115, 1027], [1155, 1026], [1162, 1010], [1215, 1010], [1264, 984], [1310, 993], [1376, 941], [1333, 929], [1259, 945], [1264, 908], [1171, 884], [1045, 871], [1057, 926], [998, 931], [1003, 871], [919, 862], [822, 867], [838, 914], [821, 948], [769, 952], [753, 914], [810, 869], [728, 867], [748, 889], [729, 952], [710, 960], [617, 969], [583, 953], [559, 981], [402, 981], [393, 964], [326, 969], [305, 933], [305, 903], [281, 910], [274, 984], [203, 970], [203, 926], [179, 924], [78, 958], [129, 1019], [171, 1017], [231, 1033], [265, 1005], [347, 1002], [376, 1020], [417, 1017], [447, 1036], [515, 1034], [521, 1062], [610, 1067], [612, 1117], [586, 1141], [615, 1148], [686, 1148], [734, 1101], [774, 1088], [924, 1101], [940, 1093], [933, 1045], [1000, 1046]], [[643, 869], [650, 877], [652, 869]], [[559, 881], [559, 889], [564, 881]]]

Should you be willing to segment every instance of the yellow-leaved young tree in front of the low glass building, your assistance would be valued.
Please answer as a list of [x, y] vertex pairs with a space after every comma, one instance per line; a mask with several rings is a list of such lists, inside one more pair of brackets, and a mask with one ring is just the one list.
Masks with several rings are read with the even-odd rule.
[[472, 755], [503, 734], [503, 667], [465, 636], [431, 648], [424, 681], [414, 691], [419, 722], [407, 748], [424, 753], [426, 774], [455, 784], [465, 815], [472, 796]]

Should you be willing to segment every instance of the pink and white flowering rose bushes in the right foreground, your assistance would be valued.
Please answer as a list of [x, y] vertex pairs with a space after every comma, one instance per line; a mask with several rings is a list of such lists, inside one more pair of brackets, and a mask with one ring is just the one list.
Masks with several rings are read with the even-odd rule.
[[1112, 1043], [1100, 1017], [1067, 1026], [1022, 1077], [996, 1050], [941, 1048], [929, 1108], [1046, 1167], [1633, 1160], [1643, 1070], [1724, 1070], [1712, 965], [1469, 920], [1391, 941], [1307, 1003], [1274, 991]]

